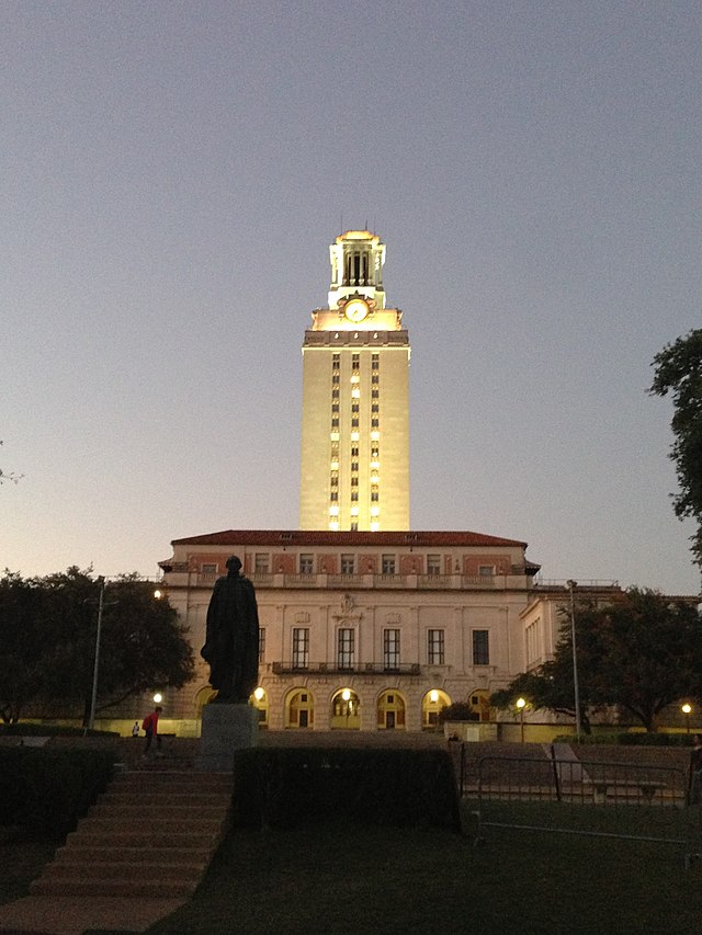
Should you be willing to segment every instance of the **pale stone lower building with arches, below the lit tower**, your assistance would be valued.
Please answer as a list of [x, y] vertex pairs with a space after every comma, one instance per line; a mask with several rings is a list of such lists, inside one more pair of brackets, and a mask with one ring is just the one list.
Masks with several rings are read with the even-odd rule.
[[[261, 626], [254, 703], [273, 730], [419, 731], [466, 700], [487, 730], [489, 695], [524, 668], [520, 615], [537, 570], [524, 543], [469, 532], [228, 529], [172, 546], [163, 582], [196, 652], [214, 582], [229, 555], [241, 559]], [[197, 659], [195, 681], [166, 699], [193, 731], [212, 696], [207, 679]]]

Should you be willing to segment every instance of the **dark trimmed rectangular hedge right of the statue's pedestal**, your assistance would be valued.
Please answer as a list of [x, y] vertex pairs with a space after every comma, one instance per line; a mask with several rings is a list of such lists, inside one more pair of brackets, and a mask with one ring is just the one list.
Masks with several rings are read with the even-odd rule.
[[234, 790], [235, 826], [344, 819], [461, 830], [453, 763], [440, 750], [245, 750]]

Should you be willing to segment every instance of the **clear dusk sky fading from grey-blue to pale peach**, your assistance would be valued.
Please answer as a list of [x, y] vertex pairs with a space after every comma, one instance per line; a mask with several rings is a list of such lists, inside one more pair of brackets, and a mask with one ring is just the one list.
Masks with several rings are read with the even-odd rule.
[[411, 525], [695, 593], [650, 362], [702, 324], [702, 5], [0, 4], [0, 568], [296, 528], [328, 244], [387, 244]]

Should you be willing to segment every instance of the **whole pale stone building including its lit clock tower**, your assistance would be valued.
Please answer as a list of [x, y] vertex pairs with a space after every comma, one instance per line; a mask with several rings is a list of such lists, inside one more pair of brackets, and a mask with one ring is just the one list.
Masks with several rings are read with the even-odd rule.
[[[163, 582], [199, 653], [213, 584], [241, 558], [261, 624], [252, 703], [271, 729], [418, 731], [452, 702], [489, 721], [490, 694], [550, 657], [567, 594], [534, 585], [523, 541], [410, 531], [410, 349], [385, 246], [349, 230], [330, 256], [303, 343], [299, 529], [176, 539]], [[181, 732], [197, 732], [207, 677], [199, 659], [166, 696]]]

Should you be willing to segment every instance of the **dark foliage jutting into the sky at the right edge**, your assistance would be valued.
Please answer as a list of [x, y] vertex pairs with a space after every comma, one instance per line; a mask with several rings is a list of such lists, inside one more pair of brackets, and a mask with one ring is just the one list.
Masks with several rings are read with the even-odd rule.
[[670, 458], [680, 484], [680, 492], [673, 497], [676, 516], [697, 521], [692, 554], [702, 567], [702, 329], [666, 344], [652, 366], [656, 375], [649, 392], [661, 397], [670, 394], [675, 408]]

